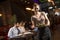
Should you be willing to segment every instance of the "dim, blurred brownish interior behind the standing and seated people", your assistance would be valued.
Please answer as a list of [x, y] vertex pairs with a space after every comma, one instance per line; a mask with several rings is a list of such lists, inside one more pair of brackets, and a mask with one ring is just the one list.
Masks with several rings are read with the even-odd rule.
[[[0, 0], [0, 39], [7, 40], [7, 32], [16, 21], [31, 21], [33, 15], [31, 9], [36, 2], [41, 5], [42, 11], [49, 14], [52, 40], [60, 40], [60, 0], [53, 1], [55, 5], [50, 11], [47, 0]], [[56, 11], [59, 13], [55, 13]]]

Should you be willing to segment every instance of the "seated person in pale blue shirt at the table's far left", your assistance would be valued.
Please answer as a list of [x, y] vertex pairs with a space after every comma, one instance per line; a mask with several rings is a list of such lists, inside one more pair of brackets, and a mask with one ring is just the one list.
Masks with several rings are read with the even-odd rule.
[[[18, 29], [18, 27], [19, 27], [19, 23], [16, 23], [16, 24], [14, 24], [13, 27], [11, 27], [11, 28], [9, 29], [8, 37], [9, 37], [10, 39], [15, 38], [15, 37], [20, 33], [20, 30]], [[12, 39], [12, 40], [13, 40], [13, 39]]]

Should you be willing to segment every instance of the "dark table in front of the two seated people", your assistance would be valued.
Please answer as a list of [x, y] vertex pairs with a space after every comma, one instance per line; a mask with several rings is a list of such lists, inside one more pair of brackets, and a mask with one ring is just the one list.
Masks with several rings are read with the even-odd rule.
[[24, 33], [9, 40], [33, 40], [33, 33]]

